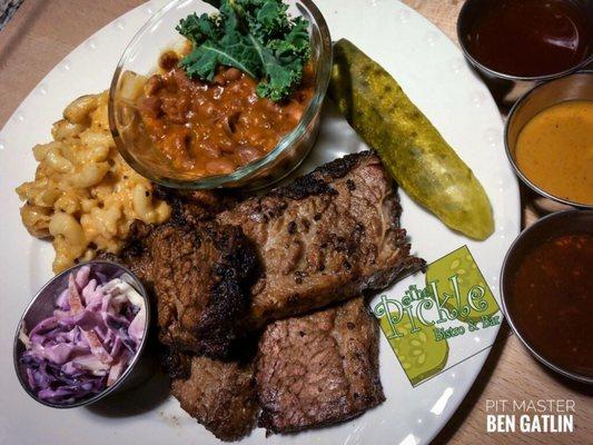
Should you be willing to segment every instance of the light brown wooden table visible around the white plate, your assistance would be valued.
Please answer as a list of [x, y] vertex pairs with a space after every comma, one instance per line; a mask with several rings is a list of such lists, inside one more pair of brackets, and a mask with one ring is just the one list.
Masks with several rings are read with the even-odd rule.
[[[319, 0], [323, 1], [323, 0]], [[464, 0], [404, 0], [456, 41], [455, 23]], [[0, 31], [0, 126], [29, 91], [80, 42], [141, 0], [27, 0]], [[534, 198], [522, 190], [524, 220], [535, 218]], [[502, 329], [486, 365], [457, 413], [434, 443], [591, 444], [593, 387], [547, 372]], [[486, 434], [486, 400], [573, 399], [574, 434]]]

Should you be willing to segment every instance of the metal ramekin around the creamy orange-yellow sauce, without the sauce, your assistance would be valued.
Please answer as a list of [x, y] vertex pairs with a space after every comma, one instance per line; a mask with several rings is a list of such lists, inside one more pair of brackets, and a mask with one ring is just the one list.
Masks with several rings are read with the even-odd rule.
[[541, 83], [524, 95], [513, 107], [505, 123], [506, 156], [523, 184], [536, 194], [569, 206], [593, 209], [593, 204], [573, 202], [551, 195], [533, 184], [515, 161], [515, 146], [525, 125], [540, 111], [567, 100], [593, 100], [593, 71], [581, 71], [546, 83]]

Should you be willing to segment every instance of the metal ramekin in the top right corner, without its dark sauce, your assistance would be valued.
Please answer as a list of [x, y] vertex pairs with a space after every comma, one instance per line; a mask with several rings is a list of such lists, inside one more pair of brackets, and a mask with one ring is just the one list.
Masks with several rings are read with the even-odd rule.
[[[512, 106], [518, 98], [521, 98], [525, 92], [531, 90], [537, 83], [545, 82], [548, 80], [557, 79], [563, 76], [570, 75], [571, 72], [579, 71], [585, 68], [589, 63], [593, 63], [593, 46], [590, 46], [590, 53], [583, 61], [575, 65], [574, 67], [552, 75], [545, 76], [535, 76], [535, 77], [522, 77], [522, 76], [512, 76], [504, 72], [495, 71], [477, 59], [471, 53], [467, 47], [467, 34], [471, 26], [474, 23], [481, 8], [485, 3], [498, 1], [498, 0], [466, 0], [457, 19], [457, 39], [459, 46], [465, 55], [465, 58], [468, 62], [475, 68], [475, 70], [484, 78], [490, 89], [493, 92], [494, 98], [506, 109]], [[576, 3], [580, 3], [583, 10], [585, 11], [589, 22], [593, 26], [593, 0], [573, 0]]]

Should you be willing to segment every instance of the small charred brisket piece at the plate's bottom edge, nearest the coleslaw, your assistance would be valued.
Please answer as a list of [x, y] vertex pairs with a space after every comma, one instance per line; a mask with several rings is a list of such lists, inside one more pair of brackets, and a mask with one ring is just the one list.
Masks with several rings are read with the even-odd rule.
[[176, 360], [189, 363], [188, 375], [171, 382], [171, 394], [181, 408], [223, 441], [237, 441], [249, 434], [259, 412], [253, 363], [205, 356]]

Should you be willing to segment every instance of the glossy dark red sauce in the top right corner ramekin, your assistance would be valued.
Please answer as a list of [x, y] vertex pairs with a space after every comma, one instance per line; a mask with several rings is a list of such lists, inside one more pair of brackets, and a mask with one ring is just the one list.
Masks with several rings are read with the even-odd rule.
[[471, 55], [505, 75], [535, 77], [575, 67], [591, 51], [592, 26], [571, 0], [486, 1], [466, 39]]

